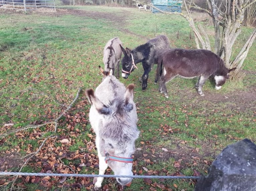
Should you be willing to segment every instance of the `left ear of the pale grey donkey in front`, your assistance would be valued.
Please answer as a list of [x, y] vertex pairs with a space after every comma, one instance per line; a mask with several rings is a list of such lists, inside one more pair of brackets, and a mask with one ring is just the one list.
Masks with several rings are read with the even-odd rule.
[[87, 89], [85, 91], [85, 94], [89, 100], [89, 102], [97, 109], [97, 111], [100, 114], [103, 115], [109, 115], [112, 113], [112, 109], [109, 107], [106, 107], [106, 105], [104, 105], [94, 94], [94, 90], [91, 89]]

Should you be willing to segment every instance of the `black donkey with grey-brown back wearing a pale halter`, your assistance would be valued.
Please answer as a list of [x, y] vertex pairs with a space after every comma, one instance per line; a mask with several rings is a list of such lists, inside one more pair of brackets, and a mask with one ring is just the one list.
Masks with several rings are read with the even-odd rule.
[[144, 69], [144, 74], [142, 75], [142, 91], [145, 91], [147, 88], [148, 74], [153, 64], [157, 64], [158, 57], [162, 52], [170, 48], [169, 39], [165, 35], [160, 35], [133, 50], [129, 48], [124, 49], [121, 45], [120, 47], [124, 53], [122, 59], [122, 77], [127, 79], [131, 72], [135, 68], [137, 69], [136, 64], [142, 62]]

